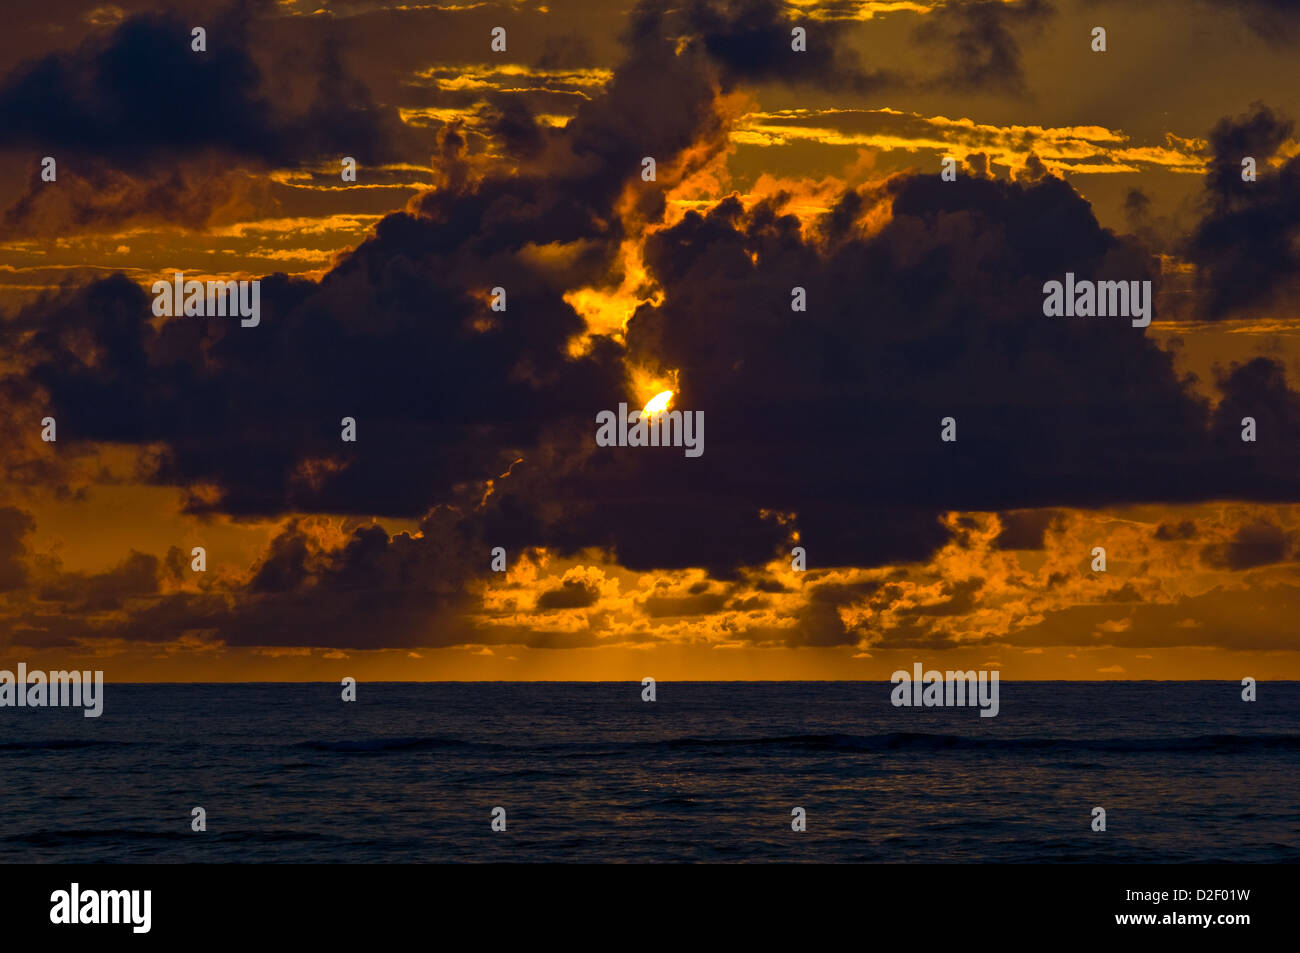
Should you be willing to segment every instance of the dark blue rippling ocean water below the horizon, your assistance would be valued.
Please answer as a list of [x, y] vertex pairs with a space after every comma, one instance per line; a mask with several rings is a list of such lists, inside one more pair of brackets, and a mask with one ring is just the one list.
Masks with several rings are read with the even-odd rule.
[[996, 718], [889, 690], [109, 684], [98, 719], [0, 709], [0, 861], [1300, 859], [1300, 683], [1254, 703], [1230, 681], [1002, 683]]

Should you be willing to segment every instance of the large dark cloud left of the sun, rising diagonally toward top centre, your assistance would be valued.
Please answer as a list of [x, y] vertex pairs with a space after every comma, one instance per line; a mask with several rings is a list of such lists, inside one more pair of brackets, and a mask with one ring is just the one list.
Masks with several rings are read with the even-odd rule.
[[[385, 218], [318, 285], [265, 278], [259, 328], [174, 320], [156, 330], [148, 296], [121, 277], [21, 315], [31, 380], [51, 393], [61, 436], [162, 442], [159, 480], [214, 484], [218, 508], [250, 515], [417, 516], [462, 484], [481, 491], [546, 425], [582, 420], [585, 445], [594, 408], [624, 395], [624, 369], [599, 339], [568, 358], [584, 324], [562, 295], [606, 278], [624, 238], [615, 203], [644, 155], [667, 165], [699, 142], [723, 144], [708, 62], [677, 56], [654, 22], [638, 21], [606, 94], [547, 134], [540, 169], [476, 181], [448, 133], [451, 187]], [[503, 118], [534, 139], [525, 117]], [[662, 190], [646, 195], [642, 211], [658, 215]], [[563, 273], [528, 256], [550, 243], [576, 250]], [[488, 309], [498, 283], [506, 312]], [[358, 420], [361, 452], [339, 442], [343, 416]], [[640, 521], [629, 507], [625, 523]], [[536, 523], [524, 516], [523, 528]], [[519, 537], [507, 528], [507, 541]], [[725, 543], [716, 547], [712, 562]]]

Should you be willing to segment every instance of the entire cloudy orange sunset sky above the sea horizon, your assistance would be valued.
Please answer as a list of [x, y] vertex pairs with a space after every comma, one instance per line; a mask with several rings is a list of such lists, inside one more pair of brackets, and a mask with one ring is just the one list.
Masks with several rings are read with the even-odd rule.
[[[5, 26], [0, 667], [1300, 679], [1300, 7]], [[663, 391], [701, 455], [598, 445]]]

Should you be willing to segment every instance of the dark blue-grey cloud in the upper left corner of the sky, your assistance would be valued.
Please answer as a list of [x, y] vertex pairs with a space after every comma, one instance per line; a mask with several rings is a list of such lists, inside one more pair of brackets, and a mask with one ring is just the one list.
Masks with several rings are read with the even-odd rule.
[[[257, 56], [274, 12], [260, 3], [186, 20], [140, 13], [10, 69], [0, 79], [0, 151], [27, 183], [5, 231], [203, 229], [217, 209], [266, 207], [272, 168], [428, 155], [428, 130], [406, 126], [350, 74], [339, 34], [304, 23], [287, 38], [292, 57]], [[195, 22], [207, 29], [205, 52], [191, 49]], [[42, 156], [58, 163], [57, 189], [40, 178]]]

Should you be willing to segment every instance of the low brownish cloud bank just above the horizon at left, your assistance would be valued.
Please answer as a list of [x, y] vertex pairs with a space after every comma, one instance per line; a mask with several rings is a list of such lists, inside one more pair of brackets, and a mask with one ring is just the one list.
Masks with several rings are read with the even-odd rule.
[[[455, 521], [446, 511], [430, 514], [420, 527], [425, 537], [390, 538], [364, 525], [330, 551], [294, 523], [252, 568], [251, 584], [238, 590], [156, 595], [157, 560], [150, 556], [146, 563], [133, 554], [108, 573], [57, 573], [32, 593], [23, 624], [0, 620], [0, 634], [39, 647], [94, 638], [162, 642], [186, 632], [229, 646], [373, 649], [485, 641], [462, 619], [468, 547]], [[150, 598], [130, 603], [135, 597]], [[125, 612], [95, 614], [124, 605]], [[68, 614], [66, 607], [77, 611]]]

